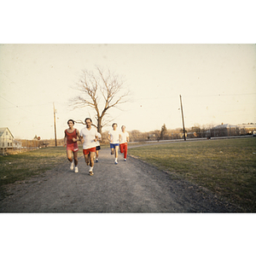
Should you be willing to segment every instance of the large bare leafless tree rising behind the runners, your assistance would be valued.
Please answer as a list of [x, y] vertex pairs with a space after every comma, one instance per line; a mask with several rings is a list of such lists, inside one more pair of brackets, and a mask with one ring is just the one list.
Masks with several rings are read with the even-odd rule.
[[[112, 121], [108, 118], [109, 109], [119, 108], [120, 104], [130, 100], [130, 91], [125, 90], [124, 79], [111, 73], [109, 69], [105, 72], [100, 67], [96, 67], [96, 74], [83, 70], [76, 89], [80, 94], [72, 99], [70, 105], [73, 108], [93, 108], [95, 126], [100, 133], [102, 133], [102, 127]], [[77, 122], [84, 124], [81, 120]]]

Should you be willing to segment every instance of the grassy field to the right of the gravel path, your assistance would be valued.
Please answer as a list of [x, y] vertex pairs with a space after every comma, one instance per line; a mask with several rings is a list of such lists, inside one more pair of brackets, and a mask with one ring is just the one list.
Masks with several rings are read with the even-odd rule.
[[165, 143], [129, 154], [256, 212], [256, 137]]

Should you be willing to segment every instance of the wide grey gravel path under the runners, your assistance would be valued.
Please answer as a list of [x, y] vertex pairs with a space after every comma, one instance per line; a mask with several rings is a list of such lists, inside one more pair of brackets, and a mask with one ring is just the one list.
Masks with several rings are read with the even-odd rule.
[[207, 189], [141, 160], [128, 156], [125, 162], [119, 154], [119, 164], [113, 161], [106, 148], [92, 177], [80, 157], [78, 173], [65, 161], [40, 177], [10, 184], [0, 212], [237, 212]]

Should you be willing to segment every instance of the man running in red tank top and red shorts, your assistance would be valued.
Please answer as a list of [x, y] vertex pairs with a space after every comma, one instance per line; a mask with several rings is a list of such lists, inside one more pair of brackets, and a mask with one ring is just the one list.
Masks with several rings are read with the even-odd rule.
[[[80, 140], [79, 130], [73, 127], [74, 125], [73, 119], [69, 119], [67, 121], [67, 125], [69, 126], [69, 128], [64, 131], [65, 133], [64, 147], [66, 147], [67, 145], [67, 159], [71, 162], [70, 170], [73, 171], [73, 164], [74, 164], [75, 165], [74, 172], [79, 172], [79, 167], [78, 167], [79, 146], [77, 143]], [[72, 157], [72, 153], [73, 153], [73, 157]]]

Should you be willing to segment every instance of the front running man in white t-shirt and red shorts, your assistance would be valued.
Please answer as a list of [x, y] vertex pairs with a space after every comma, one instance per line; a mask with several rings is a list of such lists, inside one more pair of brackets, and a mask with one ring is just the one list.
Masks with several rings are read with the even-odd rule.
[[96, 141], [98, 140], [97, 130], [95, 127], [91, 126], [92, 121], [90, 118], [87, 118], [84, 121], [86, 127], [80, 131], [80, 137], [83, 143], [84, 160], [87, 166], [90, 165], [89, 174], [92, 176], [94, 174], [92, 169], [94, 166], [94, 156], [96, 153]]

